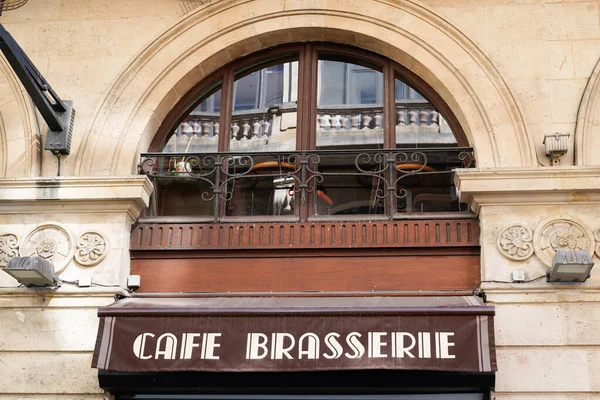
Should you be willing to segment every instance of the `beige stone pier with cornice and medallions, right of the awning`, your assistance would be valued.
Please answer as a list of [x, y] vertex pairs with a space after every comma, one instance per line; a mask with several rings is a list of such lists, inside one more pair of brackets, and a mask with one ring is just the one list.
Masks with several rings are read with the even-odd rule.
[[[597, 167], [458, 172], [481, 221], [481, 288], [496, 306], [496, 399], [599, 396], [600, 272], [574, 284], [544, 276], [561, 239], [598, 263], [599, 178]], [[513, 270], [532, 282], [512, 283]]]

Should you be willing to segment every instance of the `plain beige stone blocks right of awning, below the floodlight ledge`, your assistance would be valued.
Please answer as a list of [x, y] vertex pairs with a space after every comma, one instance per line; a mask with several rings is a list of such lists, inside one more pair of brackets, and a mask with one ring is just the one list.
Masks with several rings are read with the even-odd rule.
[[487, 288], [497, 313], [496, 399], [598, 398], [600, 298], [561, 290]]

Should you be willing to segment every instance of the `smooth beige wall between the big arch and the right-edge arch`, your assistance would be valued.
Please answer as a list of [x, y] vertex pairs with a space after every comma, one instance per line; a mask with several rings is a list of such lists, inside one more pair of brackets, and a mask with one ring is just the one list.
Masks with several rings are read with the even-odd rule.
[[[570, 132], [573, 142], [584, 89], [600, 59], [598, 2], [424, 3], [456, 24], [490, 56], [522, 107], [543, 163], [547, 160], [540, 144], [545, 133]], [[594, 147], [584, 143], [597, 139], [589, 132], [578, 136], [580, 154], [571, 150], [564, 164], [577, 156], [580, 164], [597, 165], [599, 159], [593, 154], [583, 158]]]

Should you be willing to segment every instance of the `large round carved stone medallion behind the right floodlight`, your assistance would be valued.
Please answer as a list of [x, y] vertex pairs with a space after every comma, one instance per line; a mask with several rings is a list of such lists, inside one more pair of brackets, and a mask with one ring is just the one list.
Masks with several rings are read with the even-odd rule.
[[543, 221], [535, 232], [534, 246], [535, 254], [548, 267], [558, 249], [594, 252], [594, 242], [588, 231], [566, 218]]

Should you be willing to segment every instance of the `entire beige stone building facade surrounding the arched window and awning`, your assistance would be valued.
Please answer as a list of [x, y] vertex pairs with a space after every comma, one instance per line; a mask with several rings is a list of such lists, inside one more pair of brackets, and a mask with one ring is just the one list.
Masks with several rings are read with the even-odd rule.
[[[599, 21], [600, 3], [584, 0], [31, 0], [4, 13], [77, 114], [57, 176], [44, 122], [0, 57], [0, 265], [53, 238], [65, 282], [0, 275], [0, 399], [110, 398], [90, 367], [96, 312], [126, 287], [132, 225], [154, 190], [140, 153], [219, 68], [307, 42], [405, 67], [474, 149], [476, 168], [455, 182], [479, 220], [479, 287], [496, 309], [491, 398], [600, 398], [598, 267], [582, 284], [506, 283], [515, 269], [543, 276], [559, 248], [599, 260]], [[570, 137], [553, 166], [543, 140], [554, 132]], [[68, 283], [86, 277], [91, 287]]]

